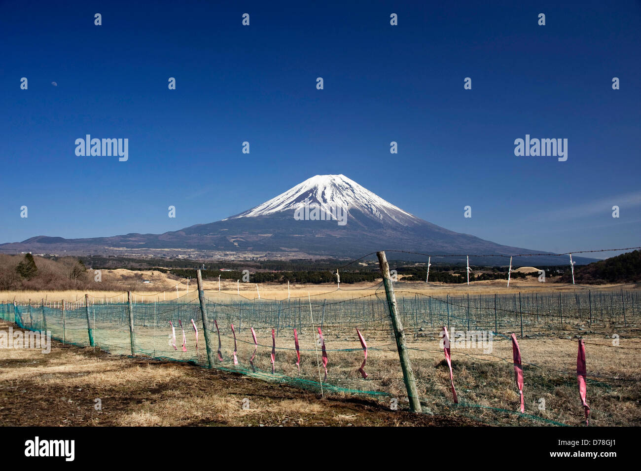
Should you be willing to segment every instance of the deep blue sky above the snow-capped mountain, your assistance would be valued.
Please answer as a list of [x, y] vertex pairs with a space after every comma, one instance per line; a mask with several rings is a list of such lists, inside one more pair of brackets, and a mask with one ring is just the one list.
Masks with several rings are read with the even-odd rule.
[[[0, 242], [162, 233], [342, 173], [502, 244], [641, 245], [640, 2], [348, 3], [0, 2]], [[129, 160], [76, 156], [86, 134]], [[568, 160], [515, 156], [526, 134]]]

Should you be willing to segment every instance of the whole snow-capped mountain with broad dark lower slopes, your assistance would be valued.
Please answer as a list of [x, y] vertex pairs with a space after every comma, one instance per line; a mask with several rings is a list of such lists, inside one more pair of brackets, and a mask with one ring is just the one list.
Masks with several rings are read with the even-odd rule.
[[[326, 217], [322, 217], [323, 214]], [[337, 214], [342, 215], [345, 224], [337, 224], [340, 222], [335, 217]], [[344, 175], [313, 176], [237, 215], [160, 235], [135, 233], [85, 239], [37, 236], [23, 242], [0, 245], [4, 253], [30, 251], [60, 254], [65, 251], [66, 254], [78, 255], [155, 255], [237, 260], [254, 257], [272, 260], [354, 258], [384, 249], [431, 255], [511, 256], [542, 253], [495, 244], [431, 224], [385, 201]], [[394, 258], [420, 260], [422, 257], [395, 252]], [[456, 260], [460, 261], [461, 258]], [[577, 263], [593, 261], [580, 257], [574, 260]], [[506, 260], [475, 258], [474, 263], [506, 265]], [[515, 259], [514, 263], [519, 264], [519, 260]], [[560, 265], [565, 263], [565, 258], [528, 256], [522, 258], [520, 263]]]

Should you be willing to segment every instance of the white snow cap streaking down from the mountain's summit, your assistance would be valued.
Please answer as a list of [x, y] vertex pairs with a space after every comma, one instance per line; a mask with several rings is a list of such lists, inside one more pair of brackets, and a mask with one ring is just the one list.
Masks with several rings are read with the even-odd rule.
[[354, 215], [354, 210], [357, 210], [372, 219], [402, 224], [403, 226], [420, 222], [419, 218], [397, 208], [394, 204], [385, 201], [344, 175], [313, 176], [285, 193], [228, 219], [294, 211], [296, 208], [304, 206], [305, 202], [319, 204], [326, 211], [330, 210], [332, 206], [344, 208], [351, 216]]

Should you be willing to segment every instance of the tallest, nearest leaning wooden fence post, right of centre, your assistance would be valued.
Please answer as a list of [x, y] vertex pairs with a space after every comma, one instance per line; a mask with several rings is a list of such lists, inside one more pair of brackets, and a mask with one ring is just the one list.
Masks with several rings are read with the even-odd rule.
[[405, 333], [403, 331], [403, 324], [401, 324], [401, 318], [398, 314], [394, 286], [392, 286], [392, 280], [390, 279], [390, 266], [387, 263], [385, 252], [376, 252], [376, 256], [378, 256], [378, 261], [381, 265], [383, 284], [385, 285], [385, 294], [387, 295], [387, 305], [390, 310], [390, 317], [392, 318], [392, 327], [394, 327], [396, 347], [399, 351], [399, 359], [401, 360], [401, 368], [403, 369], [403, 381], [407, 388], [407, 397], [410, 400], [410, 409], [412, 412], [420, 412], [419, 392], [416, 388], [416, 379], [412, 371], [410, 355], [405, 346]]

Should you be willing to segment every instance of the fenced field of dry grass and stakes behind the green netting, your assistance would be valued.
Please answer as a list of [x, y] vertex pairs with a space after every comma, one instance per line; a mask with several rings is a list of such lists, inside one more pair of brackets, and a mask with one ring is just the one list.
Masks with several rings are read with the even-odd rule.
[[[395, 402], [408, 406], [399, 365], [394, 332], [385, 292], [344, 301], [320, 297], [247, 300], [206, 292], [207, 326], [217, 357], [219, 336], [222, 361], [213, 367], [233, 371], [266, 382], [293, 384], [332, 395], [363, 394], [378, 398], [390, 407]], [[407, 347], [426, 413], [465, 415], [489, 424], [580, 425], [583, 408], [576, 383], [576, 349], [579, 336], [585, 339], [588, 361], [588, 404], [594, 425], [638, 425], [639, 399], [637, 329], [638, 291], [577, 290], [576, 292], [529, 292], [501, 295], [431, 296], [396, 285], [396, 297]], [[104, 300], [96, 300], [104, 302]], [[3, 304], [4, 320], [31, 330], [48, 330], [56, 340], [115, 354], [131, 354], [129, 305], [67, 304], [51, 306]], [[172, 361], [189, 361], [208, 366], [203, 321], [196, 295], [190, 301], [135, 302], [131, 306], [136, 355]], [[196, 349], [194, 320], [199, 331]], [[185, 329], [183, 352], [183, 332]], [[172, 331], [176, 331], [176, 349]], [[238, 364], [233, 363], [235, 327]], [[485, 347], [452, 345], [454, 385], [460, 404], [454, 404], [449, 370], [444, 361], [439, 333], [491, 332], [491, 351]], [[258, 340], [254, 352], [250, 327]], [[323, 380], [321, 327], [328, 354], [328, 377]], [[296, 366], [293, 329], [297, 329], [300, 372]], [[356, 335], [360, 330], [368, 344], [363, 379], [358, 368], [363, 351]], [[276, 356], [272, 374], [272, 329]], [[526, 413], [519, 411], [515, 386], [512, 342], [519, 338], [524, 370]], [[613, 335], [618, 335], [615, 345]], [[478, 347], [478, 345], [477, 345]], [[623, 366], [622, 366], [623, 365]], [[320, 370], [320, 377], [319, 377]]]

